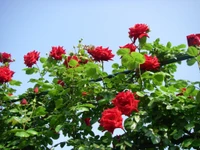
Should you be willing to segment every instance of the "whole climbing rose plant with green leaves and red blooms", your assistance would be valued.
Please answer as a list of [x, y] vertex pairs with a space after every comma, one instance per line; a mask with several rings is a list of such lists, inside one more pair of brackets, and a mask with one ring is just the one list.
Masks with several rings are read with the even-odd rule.
[[[23, 69], [32, 87], [18, 96], [14, 60], [0, 53], [0, 149], [198, 149], [200, 82], [177, 80], [174, 73], [179, 57], [187, 54], [188, 66], [200, 61], [199, 34], [187, 36], [186, 48], [148, 43], [149, 32], [146, 24], [129, 28], [131, 43], [116, 53], [120, 63], [108, 47], [82, 40], [76, 53], [52, 46], [42, 57], [33, 50], [24, 55]], [[105, 62], [112, 62], [112, 75]], [[116, 129], [121, 134], [114, 136]], [[61, 133], [66, 139], [53, 143]]]

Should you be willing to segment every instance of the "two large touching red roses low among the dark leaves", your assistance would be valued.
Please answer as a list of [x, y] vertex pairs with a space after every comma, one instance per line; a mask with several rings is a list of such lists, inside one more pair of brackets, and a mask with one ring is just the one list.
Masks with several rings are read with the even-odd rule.
[[131, 91], [120, 92], [112, 100], [113, 108], [102, 112], [100, 126], [104, 130], [113, 133], [115, 128], [122, 128], [122, 115], [130, 116], [132, 112], [138, 112], [139, 100], [135, 99], [135, 94]]

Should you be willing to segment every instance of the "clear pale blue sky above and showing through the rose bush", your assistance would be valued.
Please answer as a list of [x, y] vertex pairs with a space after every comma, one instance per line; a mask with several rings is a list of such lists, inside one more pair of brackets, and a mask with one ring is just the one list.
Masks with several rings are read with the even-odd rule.
[[[136, 23], [149, 25], [148, 41], [187, 44], [187, 35], [200, 33], [199, 8], [200, 0], [0, 0], [0, 52], [16, 59], [11, 69], [14, 79], [23, 82], [20, 94], [30, 86], [30, 76], [22, 71], [29, 51], [45, 56], [51, 46], [60, 45], [69, 53], [83, 38], [84, 44], [110, 47], [116, 53], [130, 42], [128, 28]], [[114, 61], [106, 64], [106, 71]], [[176, 78], [199, 81], [197, 64], [183, 63]]]

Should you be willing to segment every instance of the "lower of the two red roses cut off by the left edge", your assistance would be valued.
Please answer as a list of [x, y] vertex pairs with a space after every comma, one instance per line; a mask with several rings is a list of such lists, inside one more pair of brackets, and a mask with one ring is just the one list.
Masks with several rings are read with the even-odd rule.
[[8, 67], [0, 67], [0, 83], [9, 82], [15, 72], [10, 70]]

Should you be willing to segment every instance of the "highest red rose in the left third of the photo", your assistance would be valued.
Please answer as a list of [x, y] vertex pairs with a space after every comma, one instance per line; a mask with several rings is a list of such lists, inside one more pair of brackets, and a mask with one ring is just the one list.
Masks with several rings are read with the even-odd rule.
[[65, 50], [63, 49], [63, 46], [52, 46], [52, 50], [50, 52], [50, 56], [54, 58], [55, 60], [62, 60], [62, 55], [66, 54]]

